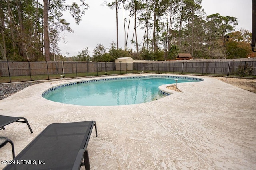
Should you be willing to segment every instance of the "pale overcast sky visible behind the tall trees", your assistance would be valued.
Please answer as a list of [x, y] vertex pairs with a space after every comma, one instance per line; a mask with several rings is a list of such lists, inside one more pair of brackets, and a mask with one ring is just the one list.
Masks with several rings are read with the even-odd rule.
[[[112, 1], [107, 0], [107, 2]], [[86, 0], [86, 3], [90, 7], [82, 16], [79, 25], [75, 24], [69, 13], [64, 15], [74, 33], [65, 32], [65, 41], [61, 39], [59, 47], [62, 54], [69, 53], [67, 55], [69, 57], [78, 55], [78, 51], [86, 47], [92, 57], [97, 44], [109, 48], [112, 41], [116, 42], [115, 10], [100, 5], [104, 4], [104, 0]], [[238, 19], [236, 31], [240, 28], [252, 31], [252, 0], [202, 0], [202, 8], [206, 16], [219, 13], [221, 16], [236, 17]], [[124, 49], [123, 16], [121, 14], [122, 11], [119, 15], [119, 48]], [[140, 30], [139, 33], [143, 35]], [[130, 31], [130, 39], [131, 34], [132, 31]], [[139, 41], [142, 41], [142, 36], [139, 37], [141, 38]]]

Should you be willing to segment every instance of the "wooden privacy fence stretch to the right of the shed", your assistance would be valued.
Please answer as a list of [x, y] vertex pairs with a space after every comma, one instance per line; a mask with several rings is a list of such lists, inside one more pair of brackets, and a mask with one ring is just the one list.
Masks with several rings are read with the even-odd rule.
[[134, 63], [134, 70], [156, 73], [256, 76], [256, 61], [177, 61]]

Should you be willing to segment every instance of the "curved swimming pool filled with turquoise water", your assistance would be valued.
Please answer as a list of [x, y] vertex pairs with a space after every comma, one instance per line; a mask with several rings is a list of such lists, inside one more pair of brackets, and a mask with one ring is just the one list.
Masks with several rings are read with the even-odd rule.
[[168, 95], [158, 89], [163, 84], [202, 81], [182, 76], [136, 76], [72, 82], [51, 88], [42, 96], [54, 102], [82, 106], [140, 104]]

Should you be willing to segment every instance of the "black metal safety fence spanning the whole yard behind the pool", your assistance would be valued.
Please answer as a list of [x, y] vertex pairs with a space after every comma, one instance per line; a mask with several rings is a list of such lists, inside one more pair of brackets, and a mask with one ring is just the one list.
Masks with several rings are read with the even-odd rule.
[[0, 61], [0, 83], [151, 72], [255, 77], [256, 61]]

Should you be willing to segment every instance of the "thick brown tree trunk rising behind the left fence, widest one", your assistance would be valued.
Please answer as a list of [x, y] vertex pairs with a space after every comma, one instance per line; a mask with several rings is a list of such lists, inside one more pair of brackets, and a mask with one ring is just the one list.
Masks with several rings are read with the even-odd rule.
[[50, 61], [50, 42], [49, 42], [49, 29], [48, 29], [48, 0], [44, 0], [44, 55], [45, 60]]

